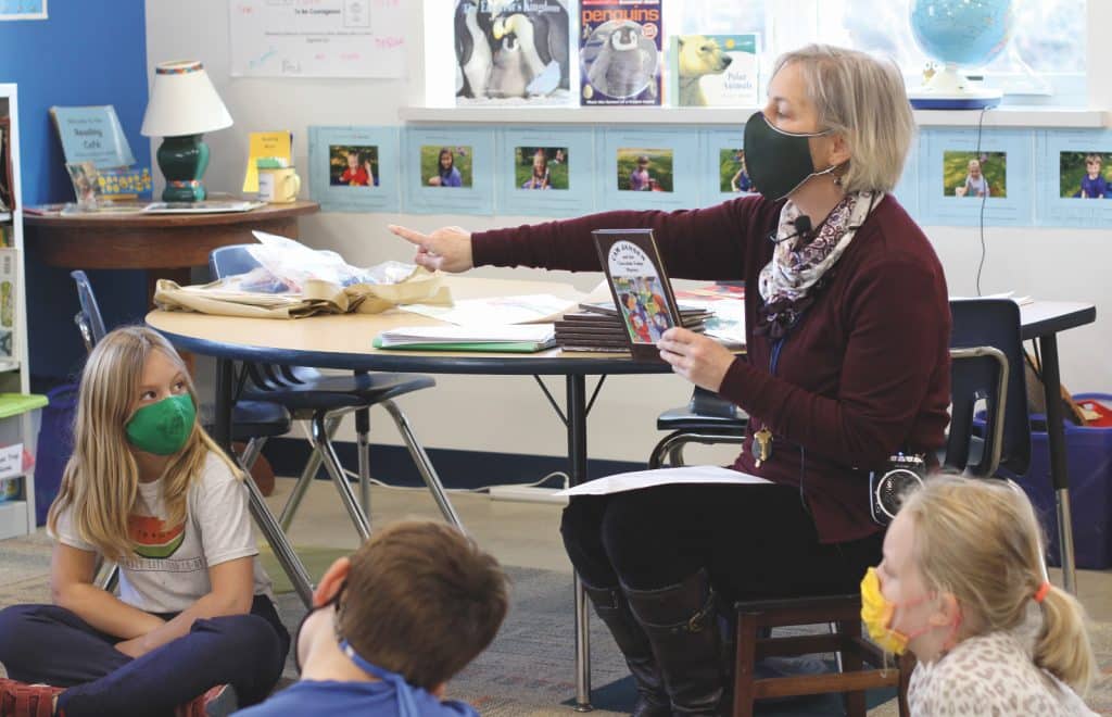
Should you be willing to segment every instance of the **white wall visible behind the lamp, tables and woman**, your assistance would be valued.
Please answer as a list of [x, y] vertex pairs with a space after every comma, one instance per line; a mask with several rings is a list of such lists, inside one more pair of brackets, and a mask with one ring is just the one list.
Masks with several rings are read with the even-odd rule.
[[[296, 162], [306, 176], [310, 125], [395, 125], [398, 108], [423, 100], [420, 0], [405, 0], [413, 28], [409, 47], [411, 79], [404, 80], [298, 80], [229, 77], [228, 2], [201, 0], [166, 2], [147, 0], [147, 53], [150, 72], [157, 62], [190, 58], [205, 62], [217, 90], [235, 118], [232, 128], [206, 139], [212, 163], [206, 183], [215, 191], [238, 192], [247, 157], [247, 132], [289, 129], [294, 132]], [[1093, 2], [1092, 6], [1112, 3]], [[1090, 20], [1112, 9], [1090, 10]], [[1112, 17], [1103, 18], [1112, 23]], [[1104, 27], [1109, 27], [1105, 24]], [[445, 62], [450, 59], [445, 48]], [[1091, 52], [1092, 53], [1092, 52]], [[1112, 76], [1094, 73], [1098, 93], [1112, 97]], [[152, 150], [153, 155], [153, 150]], [[158, 173], [158, 172], [156, 172]], [[307, 192], [302, 190], [302, 195]], [[302, 218], [301, 240], [314, 247], [335, 249], [349, 262], [371, 265], [387, 259], [408, 260], [409, 249], [385, 229], [406, 223], [416, 229], [459, 225], [469, 229], [516, 226], [536, 218], [398, 216], [322, 213]], [[971, 295], [980, 258], [975, 228], [929, 227], [946, 270], [952, 293]], [[1112, 392], [1112, 362], [1103, 349], [1112, 345], [1112, 229], [985, 229], [987, 257], [981, 287], [985, 292], [1014, 290], [1040, 299], [1093, 301], [1098, 322], [1062, 335], [1063, 381], [1075, 392]], [[525, 270], [522, 270], [525, 271]], [[480, 276], [517, 276], [512, 270], [480, 269]], [[535, 278], [573, 281], [588, 289], [597, 275], [535, 272]], [[914, 331], [915, 327], [909, 327]], [[371, 337], [367, 337], [368, 342]], [[420, 391], [403, 400], [418, 435], [428, 446], [506, 452], [566, 455], [563, 426], [530, 377], [437, 378], [436, 390]], [[563, 401], [563, 381], [548, 382]], [[590, 390], [592, 385], [588, 385]], [[588, 421], [588, 446], [597, 458], [644, 460], [658, 439], [655, 416], [679, 405], [689, 387], [671, 376], [612, 377], [607, 379]], [[631, 420], [631, 417], [637, 417]], [[379, 422], [383, 422], [381, 420]], [[388, 422], [388, 421], [387, 421]], [[399, 442], [390, 431], [376, 434], [376, 442]], [[715, 451], [725, 459], [732, 451]], [[518, 478], [518, 477], [500, 477]], [[519, 477], [528, 478], [528, 477]]]

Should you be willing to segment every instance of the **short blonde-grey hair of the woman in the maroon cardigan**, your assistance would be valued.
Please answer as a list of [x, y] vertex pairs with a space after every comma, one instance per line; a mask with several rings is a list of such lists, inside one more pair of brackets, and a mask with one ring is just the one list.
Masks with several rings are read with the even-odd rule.
[[845, 190], [891, 191], [915, 137], [900, 69], [856, 50], [808, 44], [780, 56], [773, 74], [792, 63], [800, 66], [818, 127], [845, 137], [852, 158]]

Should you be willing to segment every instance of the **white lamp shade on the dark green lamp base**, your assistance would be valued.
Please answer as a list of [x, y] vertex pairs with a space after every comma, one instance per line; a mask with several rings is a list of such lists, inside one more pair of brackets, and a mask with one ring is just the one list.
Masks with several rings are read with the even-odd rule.
[[139, 129], [141, 135], [180, 137], [225, 127], [231, 127], [231, 114], [200, 62], [172, 60], [155, 68], [155, 84]]

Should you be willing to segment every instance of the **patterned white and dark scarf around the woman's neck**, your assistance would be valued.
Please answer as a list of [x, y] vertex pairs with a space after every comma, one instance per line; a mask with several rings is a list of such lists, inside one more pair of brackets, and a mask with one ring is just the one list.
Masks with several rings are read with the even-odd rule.
[[[874, 203], [872, 192], [846, 195], [831, 210], [813, 241], [802, 247], [796, 246], [798, 240], [776, 245], [757, 282], [764, 306], [757, 316], [755, 333], [772, 339], [787, 333], [814, 303], [816, 293], [825, 285], [827, 271], [837, 263]], [[788, 200], [781, 209], [776, 237], [793, 233], [798, 216], [800, 208]]]

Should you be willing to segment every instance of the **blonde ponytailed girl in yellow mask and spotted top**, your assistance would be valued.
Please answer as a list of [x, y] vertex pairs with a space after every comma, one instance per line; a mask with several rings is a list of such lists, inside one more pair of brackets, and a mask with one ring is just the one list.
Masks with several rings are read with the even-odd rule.
[[861, 584], [870, 637], [919, 664], [913, 716], [1095, 715], [1094, 658], [1081, 605], [1046, 581], [1039, 524], [1007, 484], [937, 477], [888, 527]]

